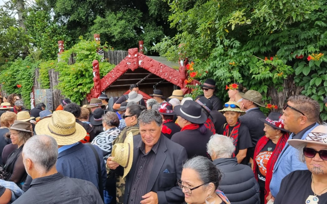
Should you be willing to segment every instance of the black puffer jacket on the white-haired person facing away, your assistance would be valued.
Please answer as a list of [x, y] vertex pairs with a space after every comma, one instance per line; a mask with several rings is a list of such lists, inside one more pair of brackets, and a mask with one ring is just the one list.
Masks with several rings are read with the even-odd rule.
[[234, 158], [219, 158], [214, 164], [222, 177], [218, 189], [224, 192], [231, 204], [260, 204], [259, 184], [247, 165]]

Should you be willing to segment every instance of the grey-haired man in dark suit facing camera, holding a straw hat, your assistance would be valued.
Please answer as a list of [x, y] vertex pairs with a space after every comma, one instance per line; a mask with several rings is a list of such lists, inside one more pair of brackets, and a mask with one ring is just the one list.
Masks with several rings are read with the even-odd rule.
[[[142, 111], [138, 122], [141, 135], [133, 137], [133, 163], [126, 177], [124, 203], [182, 203], [184, 193], [177, 181], [187, 159], [185, 148], [161, 133], [162, 117], [158, 111]], [[111, 159], [107, 165], [116, 169], [119, 164]]]

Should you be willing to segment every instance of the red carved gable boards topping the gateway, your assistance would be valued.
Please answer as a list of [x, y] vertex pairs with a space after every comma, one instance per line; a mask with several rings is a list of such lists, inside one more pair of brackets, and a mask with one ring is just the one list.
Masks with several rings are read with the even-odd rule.
[[[159, 76], [161, 79], [166, 80], [173, 85], [179, 86], [184, 94], [190, 93], [189, 88], [187, 88], [184, 84], [184, 80], [187, 78], [186, 64], [187, 59], [182, 61], [182, 63], [179, 63], [178, 71], [147, 55], [138, 52], [137, 48], [132, 48], [128, 50], [128, 55], [114, 69], [112, 69], [112, 71], [110, 71], [101, 79], [100, 92], [105, 91], [127, 71], [135, 71], [138, 68], [142, 68], [150, 72], [150, 74]], [[129, 81], [126, 81], [126, 83], [130, 84]], [[199, 84], [200, 83], [197, 80], [194, 80], [190, 83], [190, 85]], [[90, 93], [87, 95], [88, 101], [97, 97], [97, 94], [99, 93], [99, 91], [96, 90], [97, 87], [98, 86], [92, 88]]]

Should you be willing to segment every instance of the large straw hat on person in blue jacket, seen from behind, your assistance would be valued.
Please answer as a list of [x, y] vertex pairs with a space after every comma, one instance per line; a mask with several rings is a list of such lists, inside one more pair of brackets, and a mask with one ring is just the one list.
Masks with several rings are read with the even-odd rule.
[[36, 134], [52, 136], [58, 145], [71, 145], [86, 135], [86, 130], [76, 123], [76, 118], [67, 111], [54, 111], [51, 118], [44, 118], [35, 125]]

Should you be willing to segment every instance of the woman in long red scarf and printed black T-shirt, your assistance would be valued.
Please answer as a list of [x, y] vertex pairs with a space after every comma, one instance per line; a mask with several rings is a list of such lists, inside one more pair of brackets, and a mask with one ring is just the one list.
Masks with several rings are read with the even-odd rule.
[[281, 116], [278, 112], [271, 112], [267, 118], [260, 118], [265, 123], [266, 134], [255, 147], [253, 173], [260, 185], [261, 204], [267, 203], [272, 170], [289, 137]]

